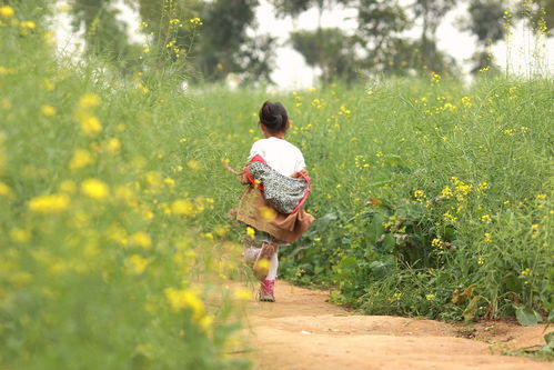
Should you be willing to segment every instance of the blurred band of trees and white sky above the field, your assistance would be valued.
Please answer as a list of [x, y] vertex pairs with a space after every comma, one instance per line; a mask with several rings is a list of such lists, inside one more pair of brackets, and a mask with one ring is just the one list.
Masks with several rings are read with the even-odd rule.
[[187, 59], [189, 83], [281, 88], [545, 74], [553, 26], [554, 0], [69, 0], [53, 16], [62, 53], [100, 56], [123, 72], [164, 54]]

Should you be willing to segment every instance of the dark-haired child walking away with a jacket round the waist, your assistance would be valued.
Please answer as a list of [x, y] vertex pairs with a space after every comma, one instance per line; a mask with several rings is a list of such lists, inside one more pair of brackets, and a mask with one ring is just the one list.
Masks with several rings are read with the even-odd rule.
[[261, 280], [259, 298], [274, 302], [279, 247], [299, 239], [314, 218], [303, 208], [310, 193], [304, 157], [284, 139], [291, 126], [286, 110], [279, 102], [266, 101], [259, 116], [265, 139], [254, 142], [240, 173], [241, 183], [249, 187], [234, 213], [248, 226], [243, 254]]

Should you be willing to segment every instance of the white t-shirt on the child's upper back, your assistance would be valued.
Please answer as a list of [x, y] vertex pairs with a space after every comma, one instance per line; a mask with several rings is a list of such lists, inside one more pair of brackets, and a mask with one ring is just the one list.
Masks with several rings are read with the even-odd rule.
[[250, 149], [249, 160], [256, 154], [262, 156], [271, 168], [284, 176], [305, 169], [304, 156], [300, 149], [283, 139], [271, 137], [258, 140]]

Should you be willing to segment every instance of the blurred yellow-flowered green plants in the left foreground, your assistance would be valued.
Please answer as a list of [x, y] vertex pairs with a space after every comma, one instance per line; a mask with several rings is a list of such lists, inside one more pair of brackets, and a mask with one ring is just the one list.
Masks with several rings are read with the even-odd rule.
[[0, 12], [0, 368], [246, 368], [194, 104], [54, 58], [43, 11]]

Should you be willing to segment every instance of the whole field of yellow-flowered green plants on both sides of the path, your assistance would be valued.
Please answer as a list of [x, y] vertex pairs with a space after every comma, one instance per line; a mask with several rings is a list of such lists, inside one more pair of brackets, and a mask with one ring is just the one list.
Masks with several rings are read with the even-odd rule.
[[266, 99], [318, 218], [282, 278], [372, 314], [552, 320], [552, 80], [184, 93], [164, 69], [56, 59], [34, 11], [0, 11], [0, 367], [248, 368], [225, 164]]

